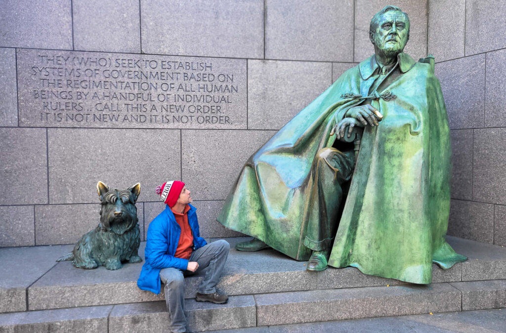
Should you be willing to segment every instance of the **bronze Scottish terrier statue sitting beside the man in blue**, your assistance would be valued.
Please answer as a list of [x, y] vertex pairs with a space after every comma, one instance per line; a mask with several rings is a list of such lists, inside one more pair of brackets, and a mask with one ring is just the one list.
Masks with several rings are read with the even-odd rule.
[[101, 203], [100, 223], [77, 241], [72, 252], [57, 261], [72, 260], [77, 268], [105, 266], [111, 270], [121, 268], [124, 261], [141, 262], [137, 254], [141, 238], [135, 206], [141, 184], [118, 191], [98, 182], [97, 191]]

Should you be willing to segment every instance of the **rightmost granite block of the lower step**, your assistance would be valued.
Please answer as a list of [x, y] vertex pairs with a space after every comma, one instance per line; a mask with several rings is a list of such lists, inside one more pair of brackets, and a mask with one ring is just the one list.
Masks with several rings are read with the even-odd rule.
[[506, 280], [450, 284], [462, 292], [462, 311], [506, 308]]

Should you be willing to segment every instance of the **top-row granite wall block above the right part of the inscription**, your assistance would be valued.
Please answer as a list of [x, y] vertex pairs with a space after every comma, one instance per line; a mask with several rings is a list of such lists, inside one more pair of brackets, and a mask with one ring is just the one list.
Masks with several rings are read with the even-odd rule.
[[262, 0], [141, 1], [143, 53], [263, 58], [263, 27]]

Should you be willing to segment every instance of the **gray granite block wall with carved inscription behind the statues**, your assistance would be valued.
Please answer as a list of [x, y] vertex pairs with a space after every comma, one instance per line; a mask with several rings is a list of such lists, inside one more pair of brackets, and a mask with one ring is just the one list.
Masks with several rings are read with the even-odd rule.
[[506, 41], [491, 26], [506, 6], [6, 0], [0, 246], [75, 242], [98, 223], [99, 180], [141, 182], [143, 236], [162, 209], [154, 188], [169, 179], [192, 190], [203, 236], [238, 235], [215, 218], [243, 162], [372, 54], [369, 20], [389, 3], [410, 15], [405, 51], [438, 61], [453, 139], [449, 233], [506, 244]]

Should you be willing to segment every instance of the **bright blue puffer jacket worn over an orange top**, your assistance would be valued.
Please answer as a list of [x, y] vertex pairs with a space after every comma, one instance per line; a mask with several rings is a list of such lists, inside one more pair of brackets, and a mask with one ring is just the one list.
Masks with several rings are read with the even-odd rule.
[[[196, 209], [191, 204], [189, 206], [188, 223], [193, 233], [193, 250], [196, 250], [204, 246], [206, 241], [200, 237]], [[139, 288], [160, 294], [159, 274], [162, 268], [175, 267], [182, 271], [186, 270], [188, 260], [174, 257], [180, 235], [181, 227], [176, 222], [170, 207], [166, 205], [163, 212], [158, 214], [149, 224], [145, 251], [146, 261], [137, 280]]]

